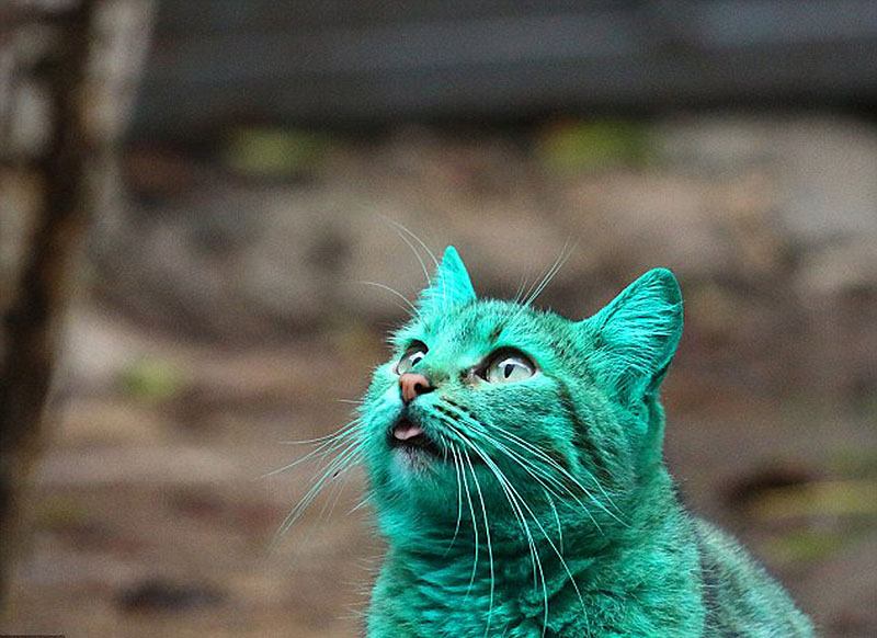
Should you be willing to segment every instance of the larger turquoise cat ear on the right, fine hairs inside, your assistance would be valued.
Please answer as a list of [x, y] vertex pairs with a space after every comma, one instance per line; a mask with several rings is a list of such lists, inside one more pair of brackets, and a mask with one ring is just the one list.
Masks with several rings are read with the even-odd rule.
[[639, 401], [657, 392], [682, 335], [676, 277], [649, 271], [580, 324], [592, 335], [596, 375], [624, 401]]

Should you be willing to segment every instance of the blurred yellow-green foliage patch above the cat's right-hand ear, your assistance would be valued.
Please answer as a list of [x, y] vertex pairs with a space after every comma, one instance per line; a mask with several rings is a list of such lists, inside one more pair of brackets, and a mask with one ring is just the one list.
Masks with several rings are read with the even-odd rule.
[[539, 132], [535, 155], [544, 169], [561, 175], [640, 167], [654, 157], [647, 125], [619, 119], [553, 124]]

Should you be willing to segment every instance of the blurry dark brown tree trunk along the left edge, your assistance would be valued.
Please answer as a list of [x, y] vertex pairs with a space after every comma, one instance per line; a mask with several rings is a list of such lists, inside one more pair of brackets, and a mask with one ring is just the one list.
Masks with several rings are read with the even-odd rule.
[[0, 5], [0, 605], [77, 255], [114, 174], [149, 2]]

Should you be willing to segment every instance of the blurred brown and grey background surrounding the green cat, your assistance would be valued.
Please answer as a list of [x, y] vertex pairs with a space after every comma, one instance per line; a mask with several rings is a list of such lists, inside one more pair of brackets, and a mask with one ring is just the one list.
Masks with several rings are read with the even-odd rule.
[[876, 105], [869, 1], [3, 0], [0, 631], [358, 635], [361, 472], [276, 543], [319, 464], [264, 475], [387, 356], [402, 225], [498, 297], [574, 242], [571, 318], [673, 269], [685, 499], [877, 636]]

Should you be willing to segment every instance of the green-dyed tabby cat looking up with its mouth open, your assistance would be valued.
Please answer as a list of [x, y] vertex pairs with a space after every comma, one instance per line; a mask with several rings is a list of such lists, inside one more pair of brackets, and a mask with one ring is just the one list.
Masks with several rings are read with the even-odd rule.
[[368, 638], [813, 636], [680, 503], [659, 389], [681, 332], [670, 271], [570, 321], [476, 298], [448, 248], [335, 463], [365, 459], [388, 543]]

